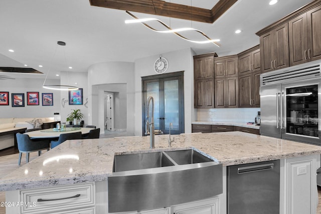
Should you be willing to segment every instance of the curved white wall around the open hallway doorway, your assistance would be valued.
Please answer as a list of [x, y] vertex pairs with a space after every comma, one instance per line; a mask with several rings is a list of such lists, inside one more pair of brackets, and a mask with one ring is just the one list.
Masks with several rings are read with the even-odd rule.
[[[104, 84], [126, 84], [126, 129], [129, 135], [134, 133], [135, 103], [134, 63], [102, 62], [88, 69], [88, 121], [104, 130]], [[102, 131], [101, 131], [102, 132]]]

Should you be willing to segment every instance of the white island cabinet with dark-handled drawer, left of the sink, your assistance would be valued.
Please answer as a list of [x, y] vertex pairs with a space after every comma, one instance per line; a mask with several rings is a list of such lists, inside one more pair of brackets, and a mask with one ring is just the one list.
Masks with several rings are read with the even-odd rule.
[[7, 207], [7, 214], [94, 214], [95, 184], [91, 182], [10, 191], [7, 192], [6, 200], [20, 203], [19, 206]]

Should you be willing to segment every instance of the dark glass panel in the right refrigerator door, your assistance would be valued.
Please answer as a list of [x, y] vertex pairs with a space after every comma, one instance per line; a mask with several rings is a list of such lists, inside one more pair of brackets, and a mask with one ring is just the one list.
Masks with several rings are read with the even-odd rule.
[[286, 133], [318, 137], [318, 85], [286, 88]]

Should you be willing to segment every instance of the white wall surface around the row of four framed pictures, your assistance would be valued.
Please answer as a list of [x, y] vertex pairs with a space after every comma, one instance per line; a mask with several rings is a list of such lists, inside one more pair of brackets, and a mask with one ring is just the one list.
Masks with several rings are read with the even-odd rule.
[[[42, 87], [43, 79], [16, 78], [15, 80], [0, 80], [0, 91], [9, 92], [9, 106], [2, 105], [1, 118], [10, 117], [54, 117], [55, 112], [60, 112], [60, 91], [45, 89]], [[59, 80], [47, 80], [49, 84], [60, 84]], [[39, 92], [39, 105], [27, 105], [27, 92]], [[12, 93], [25, 94], [25, 107], [12, 107]], [[42, 93], [53, 93], [53, 106], [42, 105]]]

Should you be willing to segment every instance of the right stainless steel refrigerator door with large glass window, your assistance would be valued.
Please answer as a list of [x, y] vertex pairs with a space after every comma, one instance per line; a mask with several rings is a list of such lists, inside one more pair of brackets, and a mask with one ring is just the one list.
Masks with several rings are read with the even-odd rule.
[[[286, 101], [286, 97], [288, 94], [286, 94], [287, 91], [291, 90], [292, 88], [297, 88], [297, 87], [302, 87], [304, 86], [311, 86], [311, 85], [317, 85], [317, 129], [318, 129], [318, 136], [309, 136], [308, 134], [296, 134], [296, 133], [290, 133], [290, 125], [293, 125], [293, 123], [289, 123], [290, 119], [289, 115], [287, 115], [287, 111], [292, 110], [291, 108], [291, 103]], [[289, 89], [289, 90], [287, 90]], [[304, 91], [303, 91], [304, 92]], [[321, 124], [320, 124], [320, 116], [321, 116], [321, 78], [314, 78], [311, 80], [300, 80], [300, 81], [295, 81], [292, 83], [286, 83], [286, 84], [281, 84], [281, 93], [284, 95], [283, 100], [282, 100], [282, 115], [283, 115], [283, 128], [281, 129], [281, 137], [283, 139], [288, 139], [288, 140], [294, 140], [294, 141], [299, 141], [299, 142], [306, 142], [306, 143], [312, 143], [312, 144], [317, 144], [321, 145], [321, 138], [320, 138], [320, 130], [321, 130]], [[296, 104], [299, 105], [299, 104]], [[309, 106], [309, 103], [302, 103], [302, 111], [311, 111], [311, 108]], [[299, 123], [299, 121], [297, 121]], [[304, 121], [303, 127], [303, 132], [304, 132], [304, 127], [309, 127], [311, 121], [306, 122]], [[295, 123], [294, 123], [295, 124]]]

